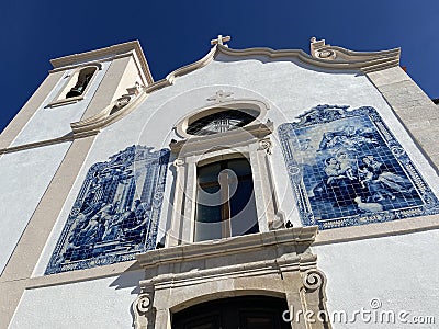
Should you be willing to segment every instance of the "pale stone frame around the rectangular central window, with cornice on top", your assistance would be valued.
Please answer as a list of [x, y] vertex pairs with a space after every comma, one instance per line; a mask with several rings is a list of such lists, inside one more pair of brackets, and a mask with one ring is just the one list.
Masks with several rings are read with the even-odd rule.
[[259, 232], [278, 228], [279, 223], [283, 224], [269, 161], [272, 131], [271, 122], [256, 123], [214, 135], [191, 136], [170, 144], [176, 155], [176, 193], [166, 238], [168, 247], [195, 242], [198, 166], [236, 157], [237, 154], [239, 157], [245, 155], [251, 167]]

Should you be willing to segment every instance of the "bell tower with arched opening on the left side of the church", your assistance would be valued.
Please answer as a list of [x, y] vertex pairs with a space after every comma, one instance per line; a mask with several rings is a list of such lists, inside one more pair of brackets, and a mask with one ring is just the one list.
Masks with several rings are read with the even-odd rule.
[[5, 228], [0, 283], [8, 283], [0, 284], [0, 294], [8, 296], [0, 327], [12, 317], [95, 136], [126, 115], [154, 82], [137, 41], [50, 64], [46, 79], [0, 135], [0, 171], [14, 182], [13, 191], [0, 186]]

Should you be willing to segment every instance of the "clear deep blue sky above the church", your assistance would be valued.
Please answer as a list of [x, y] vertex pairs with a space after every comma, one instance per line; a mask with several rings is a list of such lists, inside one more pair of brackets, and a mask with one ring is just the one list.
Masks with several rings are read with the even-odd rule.
[[[4, 3], [7, 2], [7, 3]], [[138, 39], [155, 80], [229, 47], [309, 52], [309, 38], [352, 50], [402, 47], [401, 64], [439, 98], [439, 1], [13, 1], [1, 4], [0, 131], [50, 69], [49, 59]]]

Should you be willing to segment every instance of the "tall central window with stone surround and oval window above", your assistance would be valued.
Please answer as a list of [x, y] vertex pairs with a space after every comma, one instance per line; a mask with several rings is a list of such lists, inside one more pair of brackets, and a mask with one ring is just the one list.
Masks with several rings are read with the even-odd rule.
[[[283, 225], [269, 156], [272, 122], [258, 100], [196, 110], [175, 126], [176, 169], [166, 246], [266, 232]], [[267, 123], [262, 123], [267, 121]]]

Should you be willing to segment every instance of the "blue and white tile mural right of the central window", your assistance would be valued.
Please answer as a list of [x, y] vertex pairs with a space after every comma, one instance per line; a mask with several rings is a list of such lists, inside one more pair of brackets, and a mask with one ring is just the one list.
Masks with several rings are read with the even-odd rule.
[[318, 105], [282, 124], [279, 135], [303, 225], [326, 229], [439, 212], [373, 107]]

